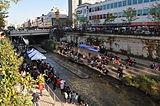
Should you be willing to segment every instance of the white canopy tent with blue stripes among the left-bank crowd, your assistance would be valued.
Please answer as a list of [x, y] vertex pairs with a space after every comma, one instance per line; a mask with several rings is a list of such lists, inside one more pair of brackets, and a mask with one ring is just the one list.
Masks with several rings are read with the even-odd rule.
[[36, 49], [31, 49], [30, 51], [27, 51], [27, 55], [31, 60], [46, 59], [46, 57]]

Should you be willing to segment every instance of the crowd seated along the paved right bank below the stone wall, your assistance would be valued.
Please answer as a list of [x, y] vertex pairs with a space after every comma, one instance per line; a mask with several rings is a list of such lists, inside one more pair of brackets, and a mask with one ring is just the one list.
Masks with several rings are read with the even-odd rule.
[[70, 58], [75, 62], [82, 63], [99, 70], [101, 75], [107, 75], [109, 72], [107, 65], [112, 64], [117, 68], [116, 72], [119, 78], [122, 78], [124, 74], [123, 70], [126, 68], [125, 67], [126, 64], [127, 65], [133, 64], [129, 60], [124, 65], [124, 63], [122, 63], [121, 59], [118, 56], [111, 53], [109, 54], [107, 52], [104, 53], [104, 55], [98, 54], [98, 55], [92, 56], [91, 53], [88, 53], [88, 55], [84, 55], [75, 49], [77, 47], [76, 45], [77, 44], [62, 42], [61, 46], [59, 47], [59, 53], [67, 56], [68, 58]]

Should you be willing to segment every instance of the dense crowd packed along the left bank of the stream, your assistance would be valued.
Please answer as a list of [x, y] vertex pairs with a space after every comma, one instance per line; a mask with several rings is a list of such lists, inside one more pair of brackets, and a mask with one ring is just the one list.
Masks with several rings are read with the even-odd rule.
[[[61, 90], [61, 94], [63, 95], [66, 103], [79, 104], [79, 106], [88, 106], [84, 99], [82, 99], [82, 96], [76, 91], [71, 90], [66, 81], [60, 78], [60, 73], [57, 72], [53, 66], [41, 60], [31, 61], [28, 59], [27, 51], [31, 48], [27, 48], [25, 45], [21, 43], [17, 44], [16, 42], [14, 42], [14, 46], [16, 51], [24, 57], [24, 61], [19, 69], [19, 73], [21, 73], [25, 77], [28, 72], [34, 80], [36, 80], [40, 76], [40, 74], [43, 74], [45, 82], [48, 85], [53, 86], [54, 91], [56, 91], [57, 89]], [[44, 84], [39, 83], [38, 89], [40, 91], [40, 96], [43, 95], [43, 88]], [[33, 103], [37, 103], [39, 98], [39, 94], [33, 91]], [[62, 98], [60, 99], [62, 100]]]

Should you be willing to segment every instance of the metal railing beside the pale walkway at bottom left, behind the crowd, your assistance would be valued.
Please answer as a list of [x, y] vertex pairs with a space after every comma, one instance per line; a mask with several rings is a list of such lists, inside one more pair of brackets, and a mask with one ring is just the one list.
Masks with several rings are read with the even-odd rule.
[[57, 97], [53, 90], [45, 83], [45, 89], [48, 91], [49, 95], [53, 98], [54, 101], [59, 102], [61, 106], [64, 106], [62, 101]]

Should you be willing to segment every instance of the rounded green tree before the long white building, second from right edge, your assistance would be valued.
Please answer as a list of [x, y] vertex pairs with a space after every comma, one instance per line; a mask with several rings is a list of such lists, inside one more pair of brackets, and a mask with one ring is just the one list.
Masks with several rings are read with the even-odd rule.
[[131, 24], [132, 21], [138, 19], [135, 8], [129, 7], [127, 10], [123, 10], [123, 12], [126, 19], [122, 19], [122, 21], [125, 23]]

